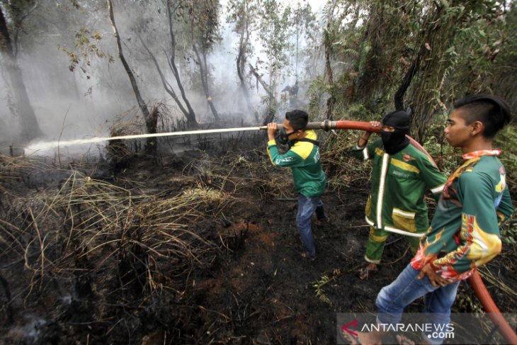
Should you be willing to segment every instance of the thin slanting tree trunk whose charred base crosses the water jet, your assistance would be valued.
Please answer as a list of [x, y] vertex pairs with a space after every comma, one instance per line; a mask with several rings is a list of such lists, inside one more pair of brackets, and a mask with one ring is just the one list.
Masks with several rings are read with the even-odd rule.
[[[149, 113], [149, 109], [147, 109], [147, 104], [144, 102], [144, 98], [140, 94], [140, 89], [138, 89], [137, 80], [135, 79], [135, 75], [125, 60], [124, 53], [122, 50], [122, 44], [120, 43], [120, 35], [118, 34], [117, 26], [115, 25], [115, 16], [113, 16], [113, 4], [111, 0], [108, 1], [108, 11], [110, 14], [110, 23], [113, 28], [113, 33], [115, 34], [115, 40], [117, 41], [117, 49], [118, 56], [120, 57], [120, 62], [122, 62], [125, 72], [127, 73], [127, 77], [129, 77], [131, 81], [131, 86], [133, 88], [133, 92], [135, 93], [135, 97], [137, 98], [138, 106], [140, 107], [140, 111], [144, 115], [145, 126], [147, 128], [148, 133], [156, 133], [157, 132], [157, 117], [151, 116]], [[154, 121], [154, 123], [153, 123]], [[155, 154], [157, 147], [157, 138], [149, 137], [145, 143], [145, 151], [147, 154]]]

